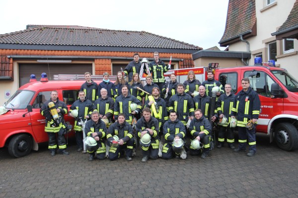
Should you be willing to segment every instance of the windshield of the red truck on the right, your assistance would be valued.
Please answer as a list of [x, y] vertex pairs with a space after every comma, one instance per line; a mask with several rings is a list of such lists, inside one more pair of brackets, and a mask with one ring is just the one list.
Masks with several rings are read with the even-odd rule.
[[273, 70], [271, 72], [281, 81], [281, 83], [284, 84], [284, 86], [290, 92], [298, 92], [298, 81], [287, 71]]

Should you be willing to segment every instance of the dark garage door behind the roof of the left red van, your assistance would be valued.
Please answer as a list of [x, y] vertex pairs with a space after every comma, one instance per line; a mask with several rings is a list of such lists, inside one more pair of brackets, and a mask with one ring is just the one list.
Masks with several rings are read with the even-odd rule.
[[85, 72], [92, 74], [92, 64], [19, 64], [19, 86], [29, 82], [30, 75], [35, 74], [39, 81], [41, 74], [45, 72], [49, 80], [53, 80], [53, 76], [57, 74], [84, 74]]

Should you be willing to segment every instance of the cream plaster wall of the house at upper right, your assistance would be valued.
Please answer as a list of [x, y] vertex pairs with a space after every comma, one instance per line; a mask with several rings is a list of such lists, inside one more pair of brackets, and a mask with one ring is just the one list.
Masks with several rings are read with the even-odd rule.
[[[266, 0], [256, 0], [257, 36], [246, 39], [250, 44], [251, 59], [249, 65], [254, 64], [254, 58], [262, 53], [263, 62], [268, 62], [268, 44], [275, 42], [271, 36], [286, 21], [296, 0], [275, 0], [266, 6]], [[294, 40], [294, 52], [284, 54], [283, 40], [277, 42], [277, 66], [286, 68], [291, 73], [298, 73], [298, 41]], [[244, 42], [229, 45], [230, 51], [247, 51]], [[295, 66], [296, 65], [296, 66]]]

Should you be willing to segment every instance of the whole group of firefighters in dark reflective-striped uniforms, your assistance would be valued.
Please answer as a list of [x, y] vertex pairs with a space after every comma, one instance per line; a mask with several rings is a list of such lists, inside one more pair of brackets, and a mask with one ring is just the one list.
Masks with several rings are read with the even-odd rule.
[[[260, 99], [248, 78], [241, 80], [242, 90], [237, 95], [231, 84], [215, 80], [213, 71], [207, 72], [208, 79], [202, 83], [193, 71], [183, 83], [177, 82], [174, 73], [165, 82], [170, 64], [165, 65], [156, 51], [153, 57], [151, 62], [145, 58], [141, 62], [135, 53], [134, 60], [117, 73], [115, 83], [105, 72], [97, 85], [86, 72], [86, 82], [70, 109], [58, 99], [57, 91], [52, 91], [51, 99], [40, 109], [46, 118], [51, 155], [69, 154], [65, 134], [71, 129], [77, 151], [88, 152], [89, 160], [124, 156], [131, 161], [139, 145], [142, 162], [158, 157], [185, 159], [187, 153], [206, 158], [215, 141], [217, 148], [222, 148], [225, 140], [234, 152], [246, 151], [248, 142], [246, 155], [256, 154]], [[147, 73], [145, 86], [140, 81], [143, 72]], [[74, 118], [73, 127], [65, 122], [65, 114]], [[234, 146], [235, 127], [238, 148]]]

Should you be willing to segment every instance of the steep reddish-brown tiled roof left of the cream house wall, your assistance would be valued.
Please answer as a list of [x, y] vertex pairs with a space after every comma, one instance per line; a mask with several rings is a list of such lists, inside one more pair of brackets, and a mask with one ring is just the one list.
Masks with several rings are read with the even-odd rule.
[[219, 43], [239, 38], [243, 33], [249, 34], [256, 22], [255, 0], [229, 0], [224, 35]]

